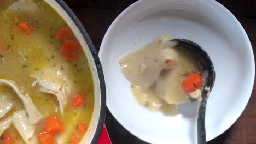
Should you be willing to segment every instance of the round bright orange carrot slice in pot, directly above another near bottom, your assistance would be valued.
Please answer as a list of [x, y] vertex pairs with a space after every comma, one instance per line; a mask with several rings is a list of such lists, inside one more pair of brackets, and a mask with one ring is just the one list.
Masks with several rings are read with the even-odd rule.
[[49, 116], [46, 118], [44, 127], [51, 135], [59, 134], [63, 130], [60, 119], [55, 116]]

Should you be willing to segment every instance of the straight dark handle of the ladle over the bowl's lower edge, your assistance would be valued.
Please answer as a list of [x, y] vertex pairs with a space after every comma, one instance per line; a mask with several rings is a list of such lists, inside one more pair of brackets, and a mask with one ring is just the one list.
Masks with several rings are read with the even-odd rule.
[[202, 100], [199, 105], [197, 117], [197, 143], [206, 144], [206, 131], [205, 131], [205, 112], [207, 104], [207, 92], [202, 92]]

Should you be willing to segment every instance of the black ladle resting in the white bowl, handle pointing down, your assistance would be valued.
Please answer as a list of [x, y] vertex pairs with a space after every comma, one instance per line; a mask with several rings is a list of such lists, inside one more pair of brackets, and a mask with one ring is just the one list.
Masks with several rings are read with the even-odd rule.
[[215, 71], [211, 58], [202, 49], [201, 46], [194, 43], [193, 41], [187, 39], [172, 39], [170, 41], [178, 43], [177, 46], [186, 47], [189, 51], [193, 53], [193, 56], [196, 56], [201, 59], [201, 65], [203, 70], [208, 72], [206, 77], [206, 83], [201, 88], [202, 99], [199, 104], [198, 114], [197, 114], [197, 143], [206, 144], [206, 131], [205, 131], [205, 112], [207, 99], [210, 95], [210, 92], [214, 86], [215, 80]]

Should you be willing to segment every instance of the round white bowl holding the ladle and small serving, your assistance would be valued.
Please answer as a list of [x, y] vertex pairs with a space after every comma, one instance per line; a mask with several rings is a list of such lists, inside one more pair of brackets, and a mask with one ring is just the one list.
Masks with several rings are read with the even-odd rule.
[[245, 109], [255, 74], [245, 30], [213, 0], [138, 1], [115, 19], [100, 49], [108, 109], [130, 133], [149, 143], [196, 143], [196, 103], [180, 105], [174, 117], [150, 111], [137, 103], [119, 69], [121, 56], [162, 33], [192, 39], [212, 58], [216, 82], [206, 109], [206, 138], [212, 140]]

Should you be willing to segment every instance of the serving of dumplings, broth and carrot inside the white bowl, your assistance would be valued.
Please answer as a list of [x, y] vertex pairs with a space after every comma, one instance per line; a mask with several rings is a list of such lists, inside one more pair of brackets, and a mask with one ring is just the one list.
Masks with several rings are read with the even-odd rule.
[[177, 105], [201, 98], [206, 75], [198, 57], [169, 41], [173, 38], [160, 35], [119, 61], [138, 102], [167, 115], [176, 115]]

